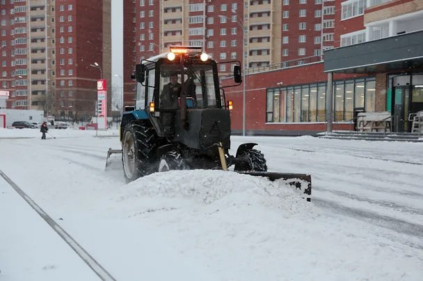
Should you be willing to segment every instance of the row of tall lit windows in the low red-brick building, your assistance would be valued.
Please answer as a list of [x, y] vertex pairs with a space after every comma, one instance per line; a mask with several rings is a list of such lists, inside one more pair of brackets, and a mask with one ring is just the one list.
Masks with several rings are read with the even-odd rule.
[[[375, 79], [335, 81], [333, 85], [334, 121], [351, 121], [354, 110], [374, 111]], [[267, 90], [266, 122], [326, 121], [327, 83], [278, 87]]]

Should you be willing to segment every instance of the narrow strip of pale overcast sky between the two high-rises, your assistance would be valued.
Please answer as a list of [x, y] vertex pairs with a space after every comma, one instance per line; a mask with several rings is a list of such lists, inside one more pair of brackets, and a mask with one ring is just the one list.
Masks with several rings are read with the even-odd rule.
[[123, 77], [123, 2], [111, 1], [111, 78], [112, 85], [120, 87]]

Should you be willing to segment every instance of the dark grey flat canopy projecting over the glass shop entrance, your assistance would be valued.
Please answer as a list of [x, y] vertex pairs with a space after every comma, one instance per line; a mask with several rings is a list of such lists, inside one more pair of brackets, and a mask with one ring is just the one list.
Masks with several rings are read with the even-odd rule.
[[324, 51], [324, 71], [377, 73], [423, 65], [423, 31]]

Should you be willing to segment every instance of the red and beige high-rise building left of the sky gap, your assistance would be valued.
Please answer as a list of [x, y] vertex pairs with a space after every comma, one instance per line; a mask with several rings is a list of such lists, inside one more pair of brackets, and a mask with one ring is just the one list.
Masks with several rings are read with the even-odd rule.
[[111, 80], [110, 0], [0, 0], [7, 108], [93, 116], [97, 79]]

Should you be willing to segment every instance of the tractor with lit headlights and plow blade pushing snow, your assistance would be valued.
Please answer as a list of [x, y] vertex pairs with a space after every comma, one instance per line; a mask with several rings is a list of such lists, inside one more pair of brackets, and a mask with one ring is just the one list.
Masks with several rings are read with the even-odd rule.
[[[230, 85], [240, 85], [239, 61], [230, 66]], [[223, 169], [271, 180], [283, 178], [310, 199], [310, 175], [267, 172], [264, 155], [254, 143], [230, 155], [230, 110], [218, 63], [200, 46], [171, 46], [170, 51], [141, 60], [133, 76], [136, 103], [125, 108], [120, 124], [122, 164], [127, 182], [150, 173], [182, 169]], [[228, 79], [228, 77], [225, 77]]]

